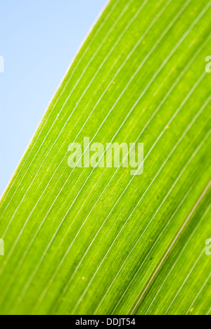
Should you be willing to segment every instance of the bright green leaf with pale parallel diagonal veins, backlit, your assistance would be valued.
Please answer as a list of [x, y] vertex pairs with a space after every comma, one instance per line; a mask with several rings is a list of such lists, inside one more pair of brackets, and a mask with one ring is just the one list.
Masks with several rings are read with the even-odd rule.
[[[210, 15], [108, 3], [1, 199], [1, 314], [210, 314]], [[143, 174], [71, 169], [84, 137]]]

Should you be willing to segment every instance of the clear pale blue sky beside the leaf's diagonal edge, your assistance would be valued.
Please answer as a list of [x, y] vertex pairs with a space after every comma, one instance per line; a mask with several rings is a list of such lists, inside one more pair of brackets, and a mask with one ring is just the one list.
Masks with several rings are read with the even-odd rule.
[[108, 0], [0, 0], [0, 196]]

